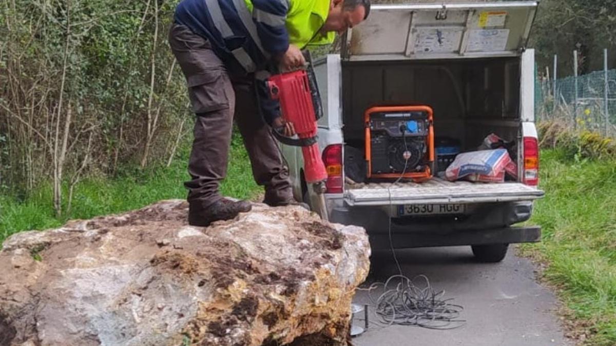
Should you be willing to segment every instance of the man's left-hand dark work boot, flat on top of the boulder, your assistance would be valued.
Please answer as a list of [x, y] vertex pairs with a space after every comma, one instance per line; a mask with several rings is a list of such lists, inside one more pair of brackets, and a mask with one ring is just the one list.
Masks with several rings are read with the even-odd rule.
[[208, 227], [212, 222], [234, 219], [240, 212], [253, 209], [248, 201], [229, 201], [221, 199], [205, 209], [200, 203], [190, 203], [188, 206], [188, 224], [197, 227]]

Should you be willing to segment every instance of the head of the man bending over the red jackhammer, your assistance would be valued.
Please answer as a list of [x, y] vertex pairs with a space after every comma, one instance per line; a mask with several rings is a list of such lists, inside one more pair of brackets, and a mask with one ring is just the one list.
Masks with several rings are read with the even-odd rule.
[[348, 28], [363, 22], [370, 14], [370, 0], [331, 0], [330, 13], [323, 31], [343, 33]]

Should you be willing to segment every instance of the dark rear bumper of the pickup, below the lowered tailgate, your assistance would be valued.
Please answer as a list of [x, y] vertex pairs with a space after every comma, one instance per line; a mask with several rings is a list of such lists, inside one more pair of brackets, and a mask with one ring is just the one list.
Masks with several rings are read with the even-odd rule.
[[[351, 207], [338, 204], [330, 209], [330, 221], [365, 228], [373, 247], [389, 247], [388, 207]], [[532, 201], [473, 205], [472, 214], [393, 218], [395, 247], [513, 244], [540, 241], [538, 227], [516, 228], [532, 215]], [[384, 239], [384, 240], [379, 240]], [[386, 241], [386, 242], [384, 242]]]

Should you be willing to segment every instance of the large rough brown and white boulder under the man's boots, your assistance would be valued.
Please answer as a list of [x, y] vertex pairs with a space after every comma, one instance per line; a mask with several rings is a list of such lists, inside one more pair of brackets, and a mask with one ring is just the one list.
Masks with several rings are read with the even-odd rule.
[[208, 228], [187, 204], [19, 233], [0, 252], [0, 345], [345, 344], [370, 245], [301, 207]]

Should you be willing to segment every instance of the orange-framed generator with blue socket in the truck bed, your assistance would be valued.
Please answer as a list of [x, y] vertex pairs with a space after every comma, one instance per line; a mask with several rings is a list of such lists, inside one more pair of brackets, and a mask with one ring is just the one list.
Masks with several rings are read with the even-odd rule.
[[365, 113], [368, 179], [412, 179], [434, 174], [431, 107], [373, 107]]

